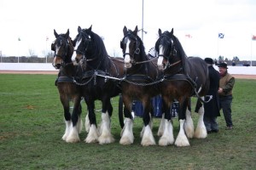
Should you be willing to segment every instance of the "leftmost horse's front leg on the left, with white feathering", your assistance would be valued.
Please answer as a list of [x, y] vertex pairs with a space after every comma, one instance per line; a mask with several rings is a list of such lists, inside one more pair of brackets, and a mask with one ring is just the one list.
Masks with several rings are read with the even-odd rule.
[[61, 104], [63, 106], [64, 118], [65, 118], [65, 124], [66, 124], [65, 133], [62, 136], [62, 139], [66, 141], [68, 133], [70, 131], [70, 127], [72, 126], [71, 114], [69, 112], [69, 99], [67, 98], [67, 96], [61, 95]]

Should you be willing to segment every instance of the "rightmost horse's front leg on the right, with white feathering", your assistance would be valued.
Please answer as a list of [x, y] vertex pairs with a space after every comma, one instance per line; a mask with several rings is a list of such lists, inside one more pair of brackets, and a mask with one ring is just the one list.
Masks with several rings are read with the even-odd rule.
[[184, 123], [185, 123], [185, 112], [187, 110], [187, 104], [189, 99], [179, 99], [180, 110], [178, 112], [178, 120], [179, 120], [179, 132], [177, 134], [177, 139], [175, 141], [175, 145], [177, 146], [189, 146], [189, 139], [187, 138], [184, 131]]

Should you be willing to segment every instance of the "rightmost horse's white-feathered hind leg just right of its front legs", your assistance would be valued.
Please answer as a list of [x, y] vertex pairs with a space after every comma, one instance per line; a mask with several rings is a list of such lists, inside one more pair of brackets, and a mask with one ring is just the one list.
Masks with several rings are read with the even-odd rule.
[[187, 105], [186, 111], [186, 122], [184, 124], [185, 132], [189, 139], [192, 139], [194, 136], [194, 123], [191, 117], [191, 98], [189, 98], [189, 102]]

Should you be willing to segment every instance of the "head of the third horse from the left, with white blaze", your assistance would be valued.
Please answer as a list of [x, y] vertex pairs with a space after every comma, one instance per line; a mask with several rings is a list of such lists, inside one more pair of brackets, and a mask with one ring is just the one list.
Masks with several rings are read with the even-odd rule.
[[126, 26], [123, 29], [124, 37], [120, 42], [120, 48], [123, 51], [126, 68], [131, 68], [131, 65], [135, 65], [138, 60], [136, 57], [144, 52], [144, 49], [142, 49], [143, 42], [137, 36], [137, 31], [137, 26], [134, 31], [127, 30]]

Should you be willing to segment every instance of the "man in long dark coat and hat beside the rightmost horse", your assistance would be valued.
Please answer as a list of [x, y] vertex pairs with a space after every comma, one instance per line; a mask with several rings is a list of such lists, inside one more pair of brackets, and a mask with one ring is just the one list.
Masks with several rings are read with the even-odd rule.
[[[210, 88], [207, 96], [212, 95], [210, 102], [204, 105], [204, 123], [207, 127], [207, 133], [218, 133], [217, 116], [219, 113], [219, 99], [218, 99], [218, 87], [219, 87], [219, 73], [213, 68], [213, 60], [211, 58], [205, 59], [208, 65]], [[207, 97], [206, 97], [207, 98]]]

